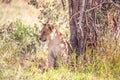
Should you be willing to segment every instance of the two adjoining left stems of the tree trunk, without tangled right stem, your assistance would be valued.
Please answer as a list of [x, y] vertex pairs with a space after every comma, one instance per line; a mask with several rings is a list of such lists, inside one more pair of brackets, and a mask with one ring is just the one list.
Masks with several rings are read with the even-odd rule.
[[86, 40], [82, 25], [85, 0], [68, 0], [70, 14], [70, 41], [77, 56], [85, 53]]

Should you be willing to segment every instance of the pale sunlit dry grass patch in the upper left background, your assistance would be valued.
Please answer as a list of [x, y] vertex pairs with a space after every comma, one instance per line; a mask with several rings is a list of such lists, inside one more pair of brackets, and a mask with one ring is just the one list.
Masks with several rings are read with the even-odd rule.
[[0, 24], [21, 19], [24, 23], [37, 23], [39, 10], [23, 0], [12, 0], [11, 4], [0, 3]]

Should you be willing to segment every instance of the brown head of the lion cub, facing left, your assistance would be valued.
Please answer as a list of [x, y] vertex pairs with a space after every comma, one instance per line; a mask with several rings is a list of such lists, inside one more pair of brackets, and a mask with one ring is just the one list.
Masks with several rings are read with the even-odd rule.
[[43, 24], [43, 28], [42, 28], [42, 30], [40, 31], [40, 40], [41, 41], [46, 41], [46, 40], [48, 40], [49, 39], [49, 37], [50, 37], [50, 34], [51, 34], [51, 32], [52, 32], [52, 30], [53, 30], [53, 26], [52, 25], [50, 25], [50, 24]]

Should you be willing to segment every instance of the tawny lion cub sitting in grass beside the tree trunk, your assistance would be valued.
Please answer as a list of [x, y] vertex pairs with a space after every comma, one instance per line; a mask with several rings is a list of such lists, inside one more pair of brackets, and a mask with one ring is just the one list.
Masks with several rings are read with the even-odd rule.
[[44, 24], [39, 39], [43, 42], [48, 41], [48, 68], [57, 67], [59, 58], [63, 64], [67, 64], [71, 47], [55, 26]]

